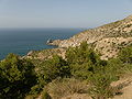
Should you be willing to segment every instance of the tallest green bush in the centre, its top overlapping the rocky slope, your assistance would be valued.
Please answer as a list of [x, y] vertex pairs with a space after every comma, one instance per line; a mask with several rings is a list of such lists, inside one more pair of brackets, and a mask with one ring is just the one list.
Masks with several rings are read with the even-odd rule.
[[82, 42], [78, 47], [70, 47], [66, 53], [66, 59], [70, 66], [72, 76], [79, 79], [87, 79], [94, 73], [96, 65], [105, 65], [105, 61], [100, 61], [87, 42]]

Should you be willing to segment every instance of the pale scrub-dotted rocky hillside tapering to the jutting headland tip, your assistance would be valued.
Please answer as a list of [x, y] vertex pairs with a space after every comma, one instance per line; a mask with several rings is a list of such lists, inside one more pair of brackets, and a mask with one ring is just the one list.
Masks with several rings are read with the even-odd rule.
[[50, 45], [58, 47], [78, 46], [87, 41], [99, 51], [102, 59], [117, 56], [120, 48], [132, 44], [132, 15], [96, 29], [86, 30], [68, 40], [55, 40]]

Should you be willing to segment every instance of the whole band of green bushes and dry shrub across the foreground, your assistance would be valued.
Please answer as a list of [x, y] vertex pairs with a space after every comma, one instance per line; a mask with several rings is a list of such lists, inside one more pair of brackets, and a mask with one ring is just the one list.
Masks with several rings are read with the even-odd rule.
[[117, 58], [101, 61], [86, 42], [69, 47], [65, 59], [58, 55], [37, 62], [10, 54], [0, 62], [0, 99], [61, 99], [87, 94], [92, 99], [117, 95], [112, 81], [132, 73], [132, 45]]

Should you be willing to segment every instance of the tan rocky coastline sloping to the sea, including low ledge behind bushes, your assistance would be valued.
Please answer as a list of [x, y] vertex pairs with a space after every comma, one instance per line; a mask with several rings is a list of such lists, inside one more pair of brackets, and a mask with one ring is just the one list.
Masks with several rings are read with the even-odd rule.
[[56, 48], [31, 51], [24, 57], [42, 61], [53, 55], [59, 55], [65, 58], [68, 47], [79, 46], [84, 41], [100, 53], [101, 59], [117, 57], [121, 48], [132, 44], [132, 15], [99, 28], [86, 30], [67, 40], [50, 40], [47, 45], [57, 46]]

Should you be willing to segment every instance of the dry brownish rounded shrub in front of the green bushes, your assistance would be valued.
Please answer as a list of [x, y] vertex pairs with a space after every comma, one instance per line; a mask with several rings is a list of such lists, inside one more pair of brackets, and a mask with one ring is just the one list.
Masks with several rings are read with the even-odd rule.
[[59, 99], [74, 94], [86, 94], [88, 86], [85, 81], [75, 78], [57, 78], [50, 82], [46, 89], [54, 98]]

